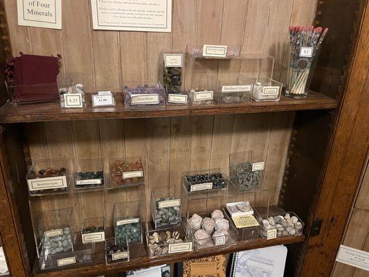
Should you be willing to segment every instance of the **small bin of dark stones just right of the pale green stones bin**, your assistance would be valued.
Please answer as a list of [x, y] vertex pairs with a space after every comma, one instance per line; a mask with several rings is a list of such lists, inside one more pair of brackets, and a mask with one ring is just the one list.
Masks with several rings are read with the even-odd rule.
[[105, 218], [84, 218], [81, 229], [82, 243], [105, 241]]

